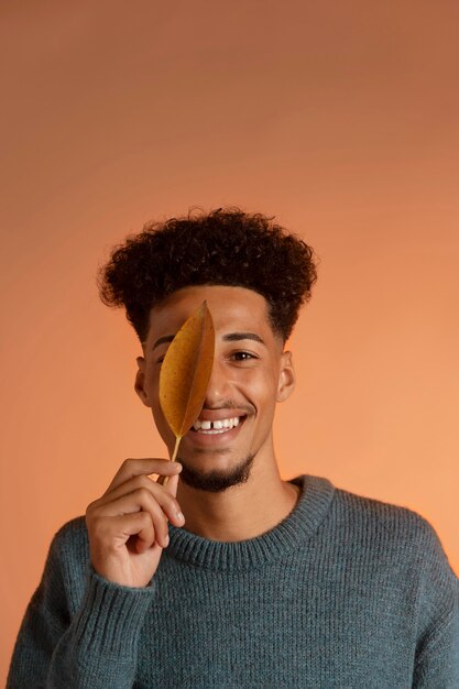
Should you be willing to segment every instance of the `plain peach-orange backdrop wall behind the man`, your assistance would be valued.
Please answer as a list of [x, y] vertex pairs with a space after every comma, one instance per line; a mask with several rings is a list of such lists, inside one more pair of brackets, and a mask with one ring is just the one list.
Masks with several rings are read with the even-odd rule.
[[53, 534], [164, 456], [95, 285], [151, 218], [240, 205], [321, 258], [282, 474], [406, 505], [459, 572], [459, 6], [2, 3], [1, 677]]

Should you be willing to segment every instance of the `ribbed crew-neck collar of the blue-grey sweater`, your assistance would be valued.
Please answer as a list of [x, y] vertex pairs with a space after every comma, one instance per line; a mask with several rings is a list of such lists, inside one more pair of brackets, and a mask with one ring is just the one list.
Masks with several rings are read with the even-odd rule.
[[275, 526], [255, 538], [222, 542], [203, 538], [170, 524], [167, 556], [215, 571], [244, 570], [281, 558], [310, 538], [325, 517], [335, 486], [325, 478], [302, 474], [289, 479], [302, 488], [292, 512]]

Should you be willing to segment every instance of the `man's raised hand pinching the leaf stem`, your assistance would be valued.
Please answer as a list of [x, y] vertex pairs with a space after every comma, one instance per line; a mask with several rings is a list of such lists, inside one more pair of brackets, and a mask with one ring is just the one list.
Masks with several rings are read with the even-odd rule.
[[[109, 581], [145, 587], [168, 545], [167, 517], [185, 521], [176, 501], [182, 464], [166, 459], [127, 459], [101, 497], [86, 510], [90, 561]], [[171, 477], [166, 486], [150, 479]]]

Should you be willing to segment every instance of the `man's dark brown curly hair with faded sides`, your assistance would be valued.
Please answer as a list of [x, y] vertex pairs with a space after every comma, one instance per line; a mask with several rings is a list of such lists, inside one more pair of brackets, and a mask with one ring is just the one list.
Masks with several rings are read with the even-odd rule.
[[230, 207], [149, 222], [98, 269], [99, 296], [107, 306], [125, 308], [144, 343], [152, 307], [176, 289], [245, 287], [266, 299], [273, 332], [285, 343], [317, 271], [314, 250], [273, 219]]

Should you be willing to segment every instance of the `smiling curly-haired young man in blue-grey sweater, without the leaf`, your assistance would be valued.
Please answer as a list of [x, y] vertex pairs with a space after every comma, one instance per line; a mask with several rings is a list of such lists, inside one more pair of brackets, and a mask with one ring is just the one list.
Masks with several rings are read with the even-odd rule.
[[273, 416], [295, 384], [284, 344], [312, 249], [220, 209], [146, 227], [99, 277], [142, 343], [135, 391], [170, 455], [161, 361], [205, 299], [212, 373], [177, 462], [124, 461], [55, 535], [8, 687], [457, 689], [458, 579], [429, 523], [278, 473]]

